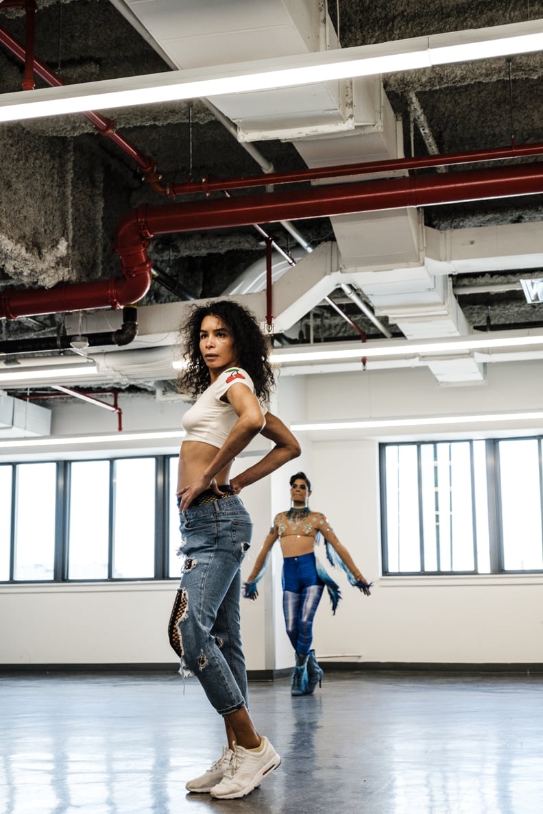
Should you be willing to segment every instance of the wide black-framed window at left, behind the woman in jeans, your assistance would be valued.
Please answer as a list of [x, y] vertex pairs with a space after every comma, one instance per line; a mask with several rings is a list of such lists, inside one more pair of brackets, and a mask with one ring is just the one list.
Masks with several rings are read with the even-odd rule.
[[177, 457], [0, 465], [0, 581], [177, 577]]

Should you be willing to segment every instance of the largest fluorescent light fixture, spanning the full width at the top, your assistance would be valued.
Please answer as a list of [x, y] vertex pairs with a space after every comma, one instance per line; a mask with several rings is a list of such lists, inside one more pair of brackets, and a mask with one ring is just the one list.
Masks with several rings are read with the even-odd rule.
[[278, 90], [543, 50], [543, 20], [0, 96], [0, 121]]

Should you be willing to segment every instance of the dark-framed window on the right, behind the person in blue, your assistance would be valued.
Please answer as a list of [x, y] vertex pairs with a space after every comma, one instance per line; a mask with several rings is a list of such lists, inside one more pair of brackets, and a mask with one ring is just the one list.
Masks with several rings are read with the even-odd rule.
[[385, 574], [543, 570], [541, 438], [382, 444]]

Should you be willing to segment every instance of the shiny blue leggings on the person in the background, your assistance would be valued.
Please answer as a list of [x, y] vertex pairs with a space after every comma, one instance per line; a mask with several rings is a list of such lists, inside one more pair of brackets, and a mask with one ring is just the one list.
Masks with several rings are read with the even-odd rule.
[[323, 589], [313, 553], [283, 559], [282, 612], [291, 645], [300, 655], [308, 654], [311, 648], [313, 619]]

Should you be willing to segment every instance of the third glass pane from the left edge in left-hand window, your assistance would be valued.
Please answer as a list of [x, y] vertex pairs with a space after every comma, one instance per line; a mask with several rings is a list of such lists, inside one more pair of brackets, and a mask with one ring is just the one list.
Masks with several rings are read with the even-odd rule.
[[109, 462], [70, 466], [68, 580], [107, 580]]

